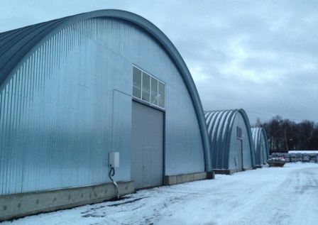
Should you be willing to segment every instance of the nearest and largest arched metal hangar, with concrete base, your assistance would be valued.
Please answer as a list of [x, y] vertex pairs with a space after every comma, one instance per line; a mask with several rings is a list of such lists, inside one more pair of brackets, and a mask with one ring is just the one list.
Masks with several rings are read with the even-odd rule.
[[213, 175], [185, 62], [126, 11], [0, 34], [0, 149], [0, 220], [116, 197], [111, 166], [121, 194]]

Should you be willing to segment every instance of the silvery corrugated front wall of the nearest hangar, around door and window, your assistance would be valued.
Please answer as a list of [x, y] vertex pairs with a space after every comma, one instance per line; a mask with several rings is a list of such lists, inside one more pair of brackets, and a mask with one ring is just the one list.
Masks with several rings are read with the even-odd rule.
[[[192, 101], [165, 50], [131, 23], [91, 18], [35, 50], [0, 94], [0, 194], [130, 179], [133, 64], [166, 83], [165, 175], [204, 171]], [[180, 113], [182, 112], [182, 113]]]

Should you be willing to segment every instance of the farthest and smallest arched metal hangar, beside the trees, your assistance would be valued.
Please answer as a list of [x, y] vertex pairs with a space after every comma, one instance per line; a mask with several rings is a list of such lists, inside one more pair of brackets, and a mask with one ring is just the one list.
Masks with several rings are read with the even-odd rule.
[[[261, 127], [251, 128], [251, 131], [252, 131], [254, 148], [255, 148], [256, 165], [262, 165], [266, 163], [266, 160], [268, 160], [268, 156], [269, 156], [267, 135], [264, 128], [261, 128]], [[263, 145], [263, 155], [261, 151], [262, 145]]]

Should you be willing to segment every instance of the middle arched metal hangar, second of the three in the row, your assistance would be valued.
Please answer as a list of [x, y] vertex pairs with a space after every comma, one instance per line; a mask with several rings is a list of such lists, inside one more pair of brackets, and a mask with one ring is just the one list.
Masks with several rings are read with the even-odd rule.
[[251, 125], [243, 109], [205, 111], [215, 173], [256, 168]]

